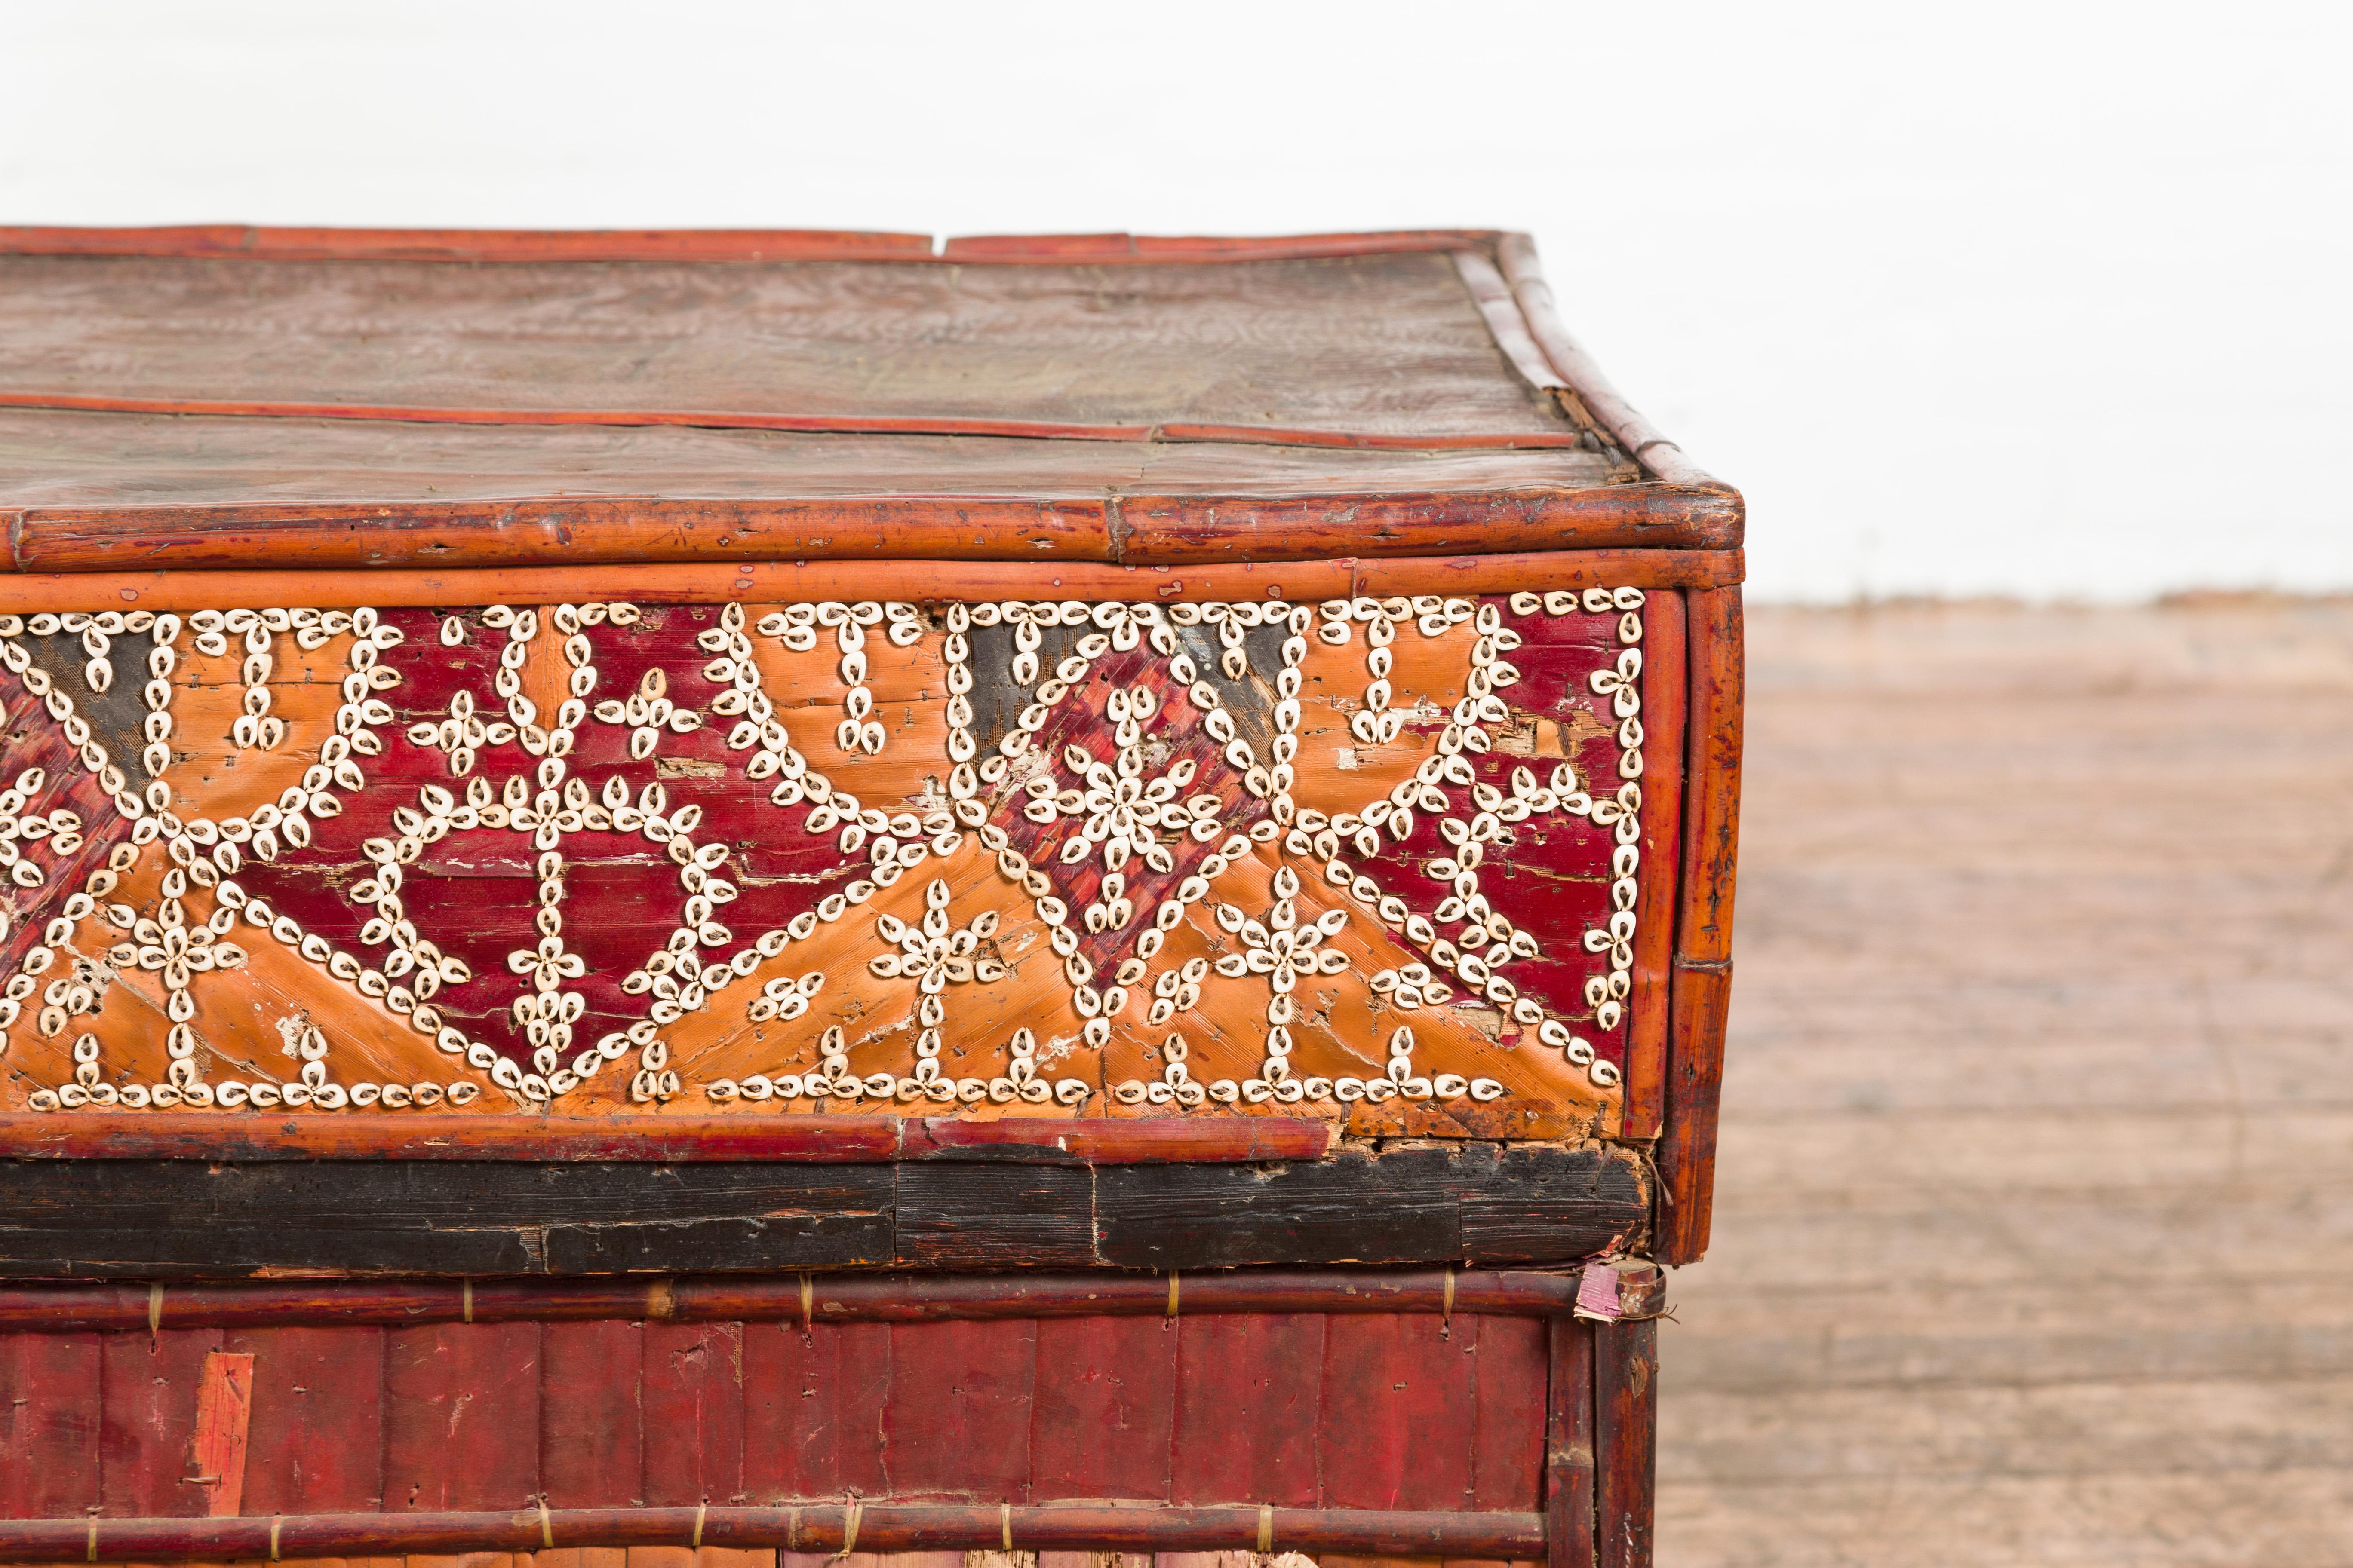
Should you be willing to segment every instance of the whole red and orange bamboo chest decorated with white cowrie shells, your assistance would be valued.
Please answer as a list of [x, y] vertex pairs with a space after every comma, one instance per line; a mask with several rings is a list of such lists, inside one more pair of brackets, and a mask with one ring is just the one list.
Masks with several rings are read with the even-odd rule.
[[0, 1561], [1649, 1561], [1741, 498], [1525, 237], [0, 280]]

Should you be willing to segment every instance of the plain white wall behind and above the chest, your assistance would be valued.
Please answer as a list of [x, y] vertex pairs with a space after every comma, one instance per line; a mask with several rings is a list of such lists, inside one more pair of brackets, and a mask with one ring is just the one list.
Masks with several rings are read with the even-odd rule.
[[2353, 588], [2353, 12], [0, 2], [0, 221], [1534, 230], [1760, 595]]

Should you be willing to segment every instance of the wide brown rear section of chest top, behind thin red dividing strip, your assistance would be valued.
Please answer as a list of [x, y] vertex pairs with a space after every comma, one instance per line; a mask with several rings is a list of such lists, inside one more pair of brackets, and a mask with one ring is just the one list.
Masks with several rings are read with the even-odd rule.
[[[1426, 252], [720, 277], [664, 261], [0, 254], [0, 280], [14, 397], [1574, 437]], [[125, 362], [129, 334], [144, 353]]]

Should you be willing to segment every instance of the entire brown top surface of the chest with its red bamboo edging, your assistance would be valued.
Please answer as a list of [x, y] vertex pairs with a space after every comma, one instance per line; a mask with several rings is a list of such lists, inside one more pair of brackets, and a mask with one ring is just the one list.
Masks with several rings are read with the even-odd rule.
[[1560, 334], [1525, 240], [1471, 233], [0, 230], [0, 512], [19, 571], [1158, 564], [1741, 522]]

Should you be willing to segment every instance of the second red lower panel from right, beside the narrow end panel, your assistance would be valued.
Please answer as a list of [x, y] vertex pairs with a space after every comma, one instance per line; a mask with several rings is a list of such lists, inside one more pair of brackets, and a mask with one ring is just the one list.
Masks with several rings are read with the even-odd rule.
[[1318, 1446], [1322, 1500], [1339, 1509], [1471, 1505], [1478, 1324], [1332, 1316]]

